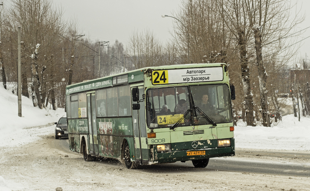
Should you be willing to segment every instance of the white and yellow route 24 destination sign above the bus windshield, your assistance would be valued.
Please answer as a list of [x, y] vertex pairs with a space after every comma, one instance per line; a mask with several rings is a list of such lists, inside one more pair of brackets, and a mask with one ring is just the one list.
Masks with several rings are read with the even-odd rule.
[[186, 68], [175, 70], [154, 70], [152, 84], [180, 84], [223, 80], [222, 67]]

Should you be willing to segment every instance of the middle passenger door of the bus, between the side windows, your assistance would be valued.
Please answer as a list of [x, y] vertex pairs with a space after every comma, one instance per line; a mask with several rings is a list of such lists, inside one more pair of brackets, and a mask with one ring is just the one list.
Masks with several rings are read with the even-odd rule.
[[89, 150], [91, 155], [99, 156], [97, 123], [96, 123], [96, 96], [87, 94], [87, 118], [89, 128]]

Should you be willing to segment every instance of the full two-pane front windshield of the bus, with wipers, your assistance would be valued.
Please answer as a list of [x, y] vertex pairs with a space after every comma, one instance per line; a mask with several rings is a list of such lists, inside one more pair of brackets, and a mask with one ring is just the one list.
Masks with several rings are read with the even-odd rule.
[[189, 109], [192, 112], [184, 116], [178, 126], [211, 124], [193, 106], [199, 107], [215, 123], [232, 121], [226, 84], [148, 89], [146, 105], [147, 124], [150, 128], [171, 127]]

